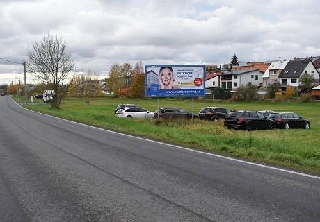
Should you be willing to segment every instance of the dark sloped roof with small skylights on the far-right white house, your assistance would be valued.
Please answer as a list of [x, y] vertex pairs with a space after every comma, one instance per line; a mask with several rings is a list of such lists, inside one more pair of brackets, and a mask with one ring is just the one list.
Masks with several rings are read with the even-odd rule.
[[282, 69], [279, 78], [299, 78], [310, 60], [289, 61], [285, 69]]

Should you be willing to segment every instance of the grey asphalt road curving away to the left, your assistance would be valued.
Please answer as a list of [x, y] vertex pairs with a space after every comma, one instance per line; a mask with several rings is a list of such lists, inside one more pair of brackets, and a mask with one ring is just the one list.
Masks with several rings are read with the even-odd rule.
[[47, 117], [1, 96], [0, 221], [320, 221], [320, 180]]

